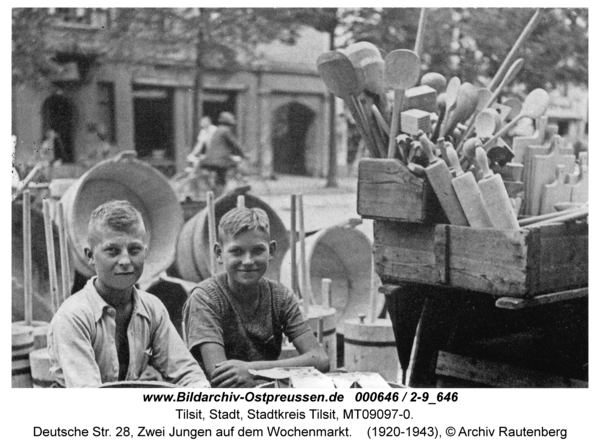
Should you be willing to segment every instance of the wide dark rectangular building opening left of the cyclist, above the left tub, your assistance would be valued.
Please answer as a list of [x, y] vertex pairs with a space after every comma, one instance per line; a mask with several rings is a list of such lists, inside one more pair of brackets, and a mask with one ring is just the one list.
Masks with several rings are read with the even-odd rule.
[[152, 157], [153, 151], [174, 159], [173, 90], [154, 86], [134, 86], [133, 117], [135, 150], [138, 157]]

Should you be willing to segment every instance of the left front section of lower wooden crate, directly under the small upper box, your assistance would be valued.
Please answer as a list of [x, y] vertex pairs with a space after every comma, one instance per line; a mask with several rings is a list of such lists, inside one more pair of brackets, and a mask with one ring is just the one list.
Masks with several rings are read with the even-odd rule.
[[434, 225], [373, 222], [375, 270], [383, 281], [438, 283]]

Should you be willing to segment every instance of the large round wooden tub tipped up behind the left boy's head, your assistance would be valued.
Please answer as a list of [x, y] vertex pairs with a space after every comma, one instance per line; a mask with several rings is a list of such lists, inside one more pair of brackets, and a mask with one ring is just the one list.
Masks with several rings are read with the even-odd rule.
[[69, 246], [75, 268], [84, 275], [94, 271], [85, 258], [87, 227], [92, 211], [110, 200], [128, 200], [140, 211], [150, 234], [149, 251], [140, 285], [149, 284], [175, 259], [183, 211], [167, 178], [132, 151], [94, 165], [61, 198]]

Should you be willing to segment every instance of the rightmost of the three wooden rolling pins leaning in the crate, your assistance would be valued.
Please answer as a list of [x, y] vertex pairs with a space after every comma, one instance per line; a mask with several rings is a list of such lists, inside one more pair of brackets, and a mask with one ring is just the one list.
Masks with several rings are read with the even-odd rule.
[[479, 169], [483, 171], [483, 178], [477, 184], [494, 228], [518, 229], [517, 215], [504, 188], [502, 177], [492, 173], [487, 155], [481, 146], [475, 150], [475, 158]]

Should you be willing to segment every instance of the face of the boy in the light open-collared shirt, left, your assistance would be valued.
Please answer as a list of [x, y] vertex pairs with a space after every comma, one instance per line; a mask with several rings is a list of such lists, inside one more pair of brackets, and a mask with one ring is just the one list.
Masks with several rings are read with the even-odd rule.
[[96, 270], [99, 287], [123, 290], [134, 286], [144, 270], [146, 231], [137, 225], [129, 231], [99, 225], [92, 237], [93, 247], [85, 253]]

